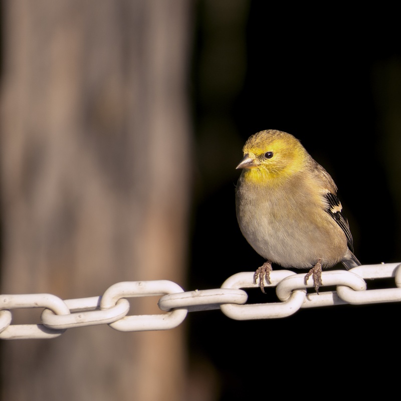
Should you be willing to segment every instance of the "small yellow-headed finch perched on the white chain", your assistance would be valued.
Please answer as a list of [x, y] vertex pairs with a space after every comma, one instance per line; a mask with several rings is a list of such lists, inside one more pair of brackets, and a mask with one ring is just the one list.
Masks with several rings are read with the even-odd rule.
[[272, 263], [284, 268], [309, 269], [319, 294], [322, 268], [342, 263], [360, 266], [337, 186], [330, 174], [293, 135], [268, 129], [251, 135], [235, 189], [240, 230], [266, 262], [254, 274], [264, 290]]

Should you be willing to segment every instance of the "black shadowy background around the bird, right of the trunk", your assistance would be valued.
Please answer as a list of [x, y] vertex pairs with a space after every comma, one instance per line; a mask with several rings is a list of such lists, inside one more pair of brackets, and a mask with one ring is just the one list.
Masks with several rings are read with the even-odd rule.
[[[401, 49], [394, 11], [271, 5], [250, 2], [230, 20], [227, 9], [219, 17], [211, 2], [198, 3], [189, 289], [218, 288], [264, 262], [237, 225], [235, 167], [246, 139], [271, 128], [300, 139], [331, 174], [361, 263], [401, 260]], [[369, 285], [394, 286], [392, 279]], [[257, 302], [272, 298], [255, 295]], [[245, 322], [198, 312], [189, 316], [189, 349], [194, 364], [206, 360], [215, 369], [221, 400], [259, 399], [286, 379], [299, 378], [304, 390], [320, 388], [344, 369], [374, 374], [380, 385], [391, 375], [387, 358], [399, 311], [397, 303], [343, 305]]]

